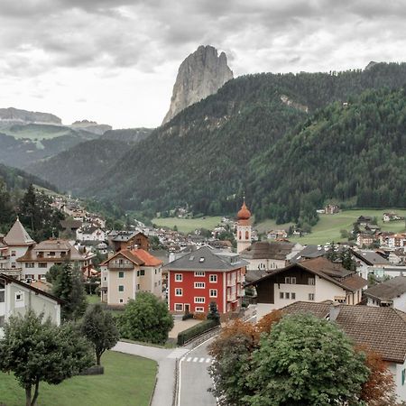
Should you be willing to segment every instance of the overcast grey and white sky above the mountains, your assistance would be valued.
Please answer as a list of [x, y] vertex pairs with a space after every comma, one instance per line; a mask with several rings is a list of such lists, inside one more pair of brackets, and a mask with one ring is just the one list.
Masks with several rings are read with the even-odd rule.
[[401, 61], [403, 1], [0, 0], [0, 107], [157, 126], [200, 44], [235, 76]]

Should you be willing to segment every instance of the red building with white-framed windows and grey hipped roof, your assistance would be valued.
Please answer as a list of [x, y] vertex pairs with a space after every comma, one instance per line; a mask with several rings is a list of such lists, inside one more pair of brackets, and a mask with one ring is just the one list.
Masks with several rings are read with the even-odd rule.
[[170, 311], [207, 313], [211, 301], [222, 314], [240, 309], [246, 264], [239, 254], [208, 246], [168, 263]]

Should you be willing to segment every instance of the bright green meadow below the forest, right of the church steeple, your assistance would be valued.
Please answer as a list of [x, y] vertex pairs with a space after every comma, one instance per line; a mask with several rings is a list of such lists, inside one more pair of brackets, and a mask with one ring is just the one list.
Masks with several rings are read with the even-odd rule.
[[[406, 216], [406, 209], [357, 209], [357, 210], [343, 210], [335, 215], [319, 215], [320, 219], [318, 224], [312, 228], [312, 232], [309, 235], [304, 235], [302, 237], [292, 236], [290, 241], [298, 242], [303, 245], [309, 244], [326, 244], [332, 241], [346, 241], [340, 234], [340, 230], [351, 231], [353, 228], [353, 223], [357, 217], [360, 216], [370, 216], [378, 218], [378, 226], [381, 227], [383, 231], [394, 231], [396, 233], [405, 231], [405, 223], [403, 221], [394, 221], [390, 223], [383, 223], [382, 217], [384, 212], [394, 211], [400, 216]], [[254, 226], [263, 230], [262, 232], [270, 231], [272, 229], [287, 229], [290, 225], [276, 225], [272, 220], [266, 220], [263, 223]]]

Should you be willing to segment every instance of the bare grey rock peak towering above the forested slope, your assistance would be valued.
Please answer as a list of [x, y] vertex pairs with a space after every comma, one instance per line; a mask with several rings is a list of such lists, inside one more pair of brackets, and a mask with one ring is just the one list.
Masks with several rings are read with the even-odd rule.
[[171, 106], [162, 124], [184, 108], [216, 93], [226, 81], [233, 78], [224, 52], [217, 55], [216, 48], [200, 45], [180, 64], [171, 97]]

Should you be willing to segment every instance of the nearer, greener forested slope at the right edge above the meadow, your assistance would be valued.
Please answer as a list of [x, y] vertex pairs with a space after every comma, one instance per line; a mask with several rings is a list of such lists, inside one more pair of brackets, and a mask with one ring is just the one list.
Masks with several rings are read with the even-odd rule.
[[329, 198], [404, 207], [406, 88], [366, 90], [319, 110], [251, 161], [247, 173], [255, 215], [280, 222], [311, 222]]

